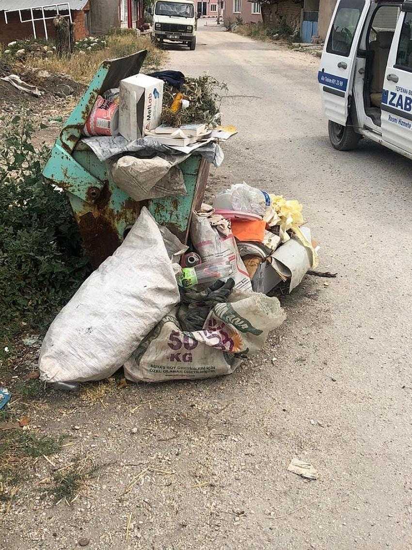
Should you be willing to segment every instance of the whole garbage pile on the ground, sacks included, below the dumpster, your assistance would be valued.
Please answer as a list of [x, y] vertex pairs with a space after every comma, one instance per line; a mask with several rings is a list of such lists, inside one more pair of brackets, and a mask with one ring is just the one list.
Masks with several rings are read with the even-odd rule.
[[41, 379], [97, 380], [122, 366], [135, 382], [206, 378], [261, 349], [285, 312], [259, 289], [293, 288], [318, 261], [302, 206], [244, 183], [213, 202], [193, 212], [188, 244], [142, 208], [53, 321]]

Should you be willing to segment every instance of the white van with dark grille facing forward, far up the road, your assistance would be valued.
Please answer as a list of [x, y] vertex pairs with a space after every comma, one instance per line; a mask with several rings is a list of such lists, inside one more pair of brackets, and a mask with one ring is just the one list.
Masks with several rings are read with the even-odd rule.
[[186, 44], [196, 48], [197, 21], [194, 3], [188, 0], [157, 0], [152, 13], [152, 40], [164, 40]]

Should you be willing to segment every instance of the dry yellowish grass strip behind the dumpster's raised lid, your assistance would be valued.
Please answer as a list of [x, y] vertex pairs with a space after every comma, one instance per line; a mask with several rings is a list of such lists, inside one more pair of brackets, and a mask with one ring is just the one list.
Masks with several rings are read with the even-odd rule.
[[99, 65], [105, 59], [130, 56], [140, 50], [148, 50], [143, 67], [158, 68], [164, 53], [154, 45], [148, 36], [137, 36], [133, 33], [113, 34], [106, 38], [107, 47], [87, 53], [76, 52], [70, 58], [60, 59], [57, 56], [47, 58], [30, 58], [34, 68], [45, 69], [50, 73], [64, 73], [76, 82], [89, 84]]

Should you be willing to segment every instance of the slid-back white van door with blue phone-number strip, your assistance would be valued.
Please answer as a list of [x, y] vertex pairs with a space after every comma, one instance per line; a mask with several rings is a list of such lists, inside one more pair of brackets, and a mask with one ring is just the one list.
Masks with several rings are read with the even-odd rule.
[[340, 0], [322, 53], [318, 81], [325, 116], [346, 125], [359, 37], [368, 15], [369, 2]]

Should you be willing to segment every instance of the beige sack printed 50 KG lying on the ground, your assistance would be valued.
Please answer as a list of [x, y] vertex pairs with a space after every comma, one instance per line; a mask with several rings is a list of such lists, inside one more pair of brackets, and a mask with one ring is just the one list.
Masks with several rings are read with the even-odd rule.
[[183, 332], [176, 313], [166, 315], [125, 362], [126, 378], [161, 382], [231, 374], [241, 363], [237, 354], [258, 351], [286, 317], [277, 298], [259, 293], [217, 304], [201, 331]]

